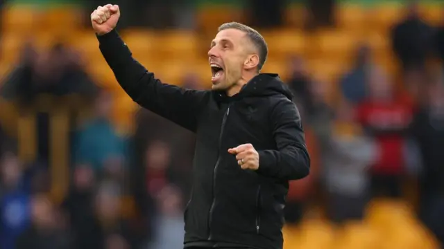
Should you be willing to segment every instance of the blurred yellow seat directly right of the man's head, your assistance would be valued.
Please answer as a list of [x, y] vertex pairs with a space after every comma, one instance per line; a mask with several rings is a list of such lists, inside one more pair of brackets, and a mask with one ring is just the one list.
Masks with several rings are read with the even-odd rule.
[[298, 30], [275, 30], [262, 33], [268, 44], [269, 53], [275, 55], [302, 55], [306, 51], [305, 35]]

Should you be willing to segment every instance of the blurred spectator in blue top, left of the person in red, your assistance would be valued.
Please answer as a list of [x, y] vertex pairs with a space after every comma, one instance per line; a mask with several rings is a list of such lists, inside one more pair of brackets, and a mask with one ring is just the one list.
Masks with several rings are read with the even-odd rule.
[[345, 100], [357, 104], [366, 98], [368, 73], [372, 66], [370, 47], [362, 44], [357, 49], [352, 70], [341, 79], [341, 92]]

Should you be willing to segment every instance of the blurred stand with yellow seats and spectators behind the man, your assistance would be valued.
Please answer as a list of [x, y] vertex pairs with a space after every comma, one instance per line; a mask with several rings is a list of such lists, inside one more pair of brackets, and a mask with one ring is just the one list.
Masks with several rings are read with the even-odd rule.
[[[106, 3], [0, 1], [1, 249], [182, 248], [194, 135], [120, 89], [90, 28]], [[112, 3], [135, 57], [191, 89], [219, 25], [264, 35], [312, 158], [285, 249], [443, 248], [441, 0]]]

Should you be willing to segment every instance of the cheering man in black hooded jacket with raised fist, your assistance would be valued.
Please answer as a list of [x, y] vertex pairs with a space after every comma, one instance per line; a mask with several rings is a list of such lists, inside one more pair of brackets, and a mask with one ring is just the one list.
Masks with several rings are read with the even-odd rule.
[[289, 180], [309, 174], [309, 155], [291, 92], [278, 75], [259, 73], [264, 38], [223, 24], [208, 52], [212, 91], [194, 91], [135, 61], [114, 30], [119, 16], [115, 5], [91, 15], [117, 81], [142, 107], [196, 133], [185, 248], [282, 248]]

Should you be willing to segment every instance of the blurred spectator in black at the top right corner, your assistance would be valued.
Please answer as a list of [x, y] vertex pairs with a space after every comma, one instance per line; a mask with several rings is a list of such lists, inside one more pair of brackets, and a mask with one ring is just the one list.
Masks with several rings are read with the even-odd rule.
[[425, 66], [431, 52], [434, 30], [422, 21], [417, 0], [407, 6], [407, 17], [395, 25], [392, 33], [393, 50], [404, 70]]

